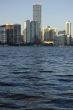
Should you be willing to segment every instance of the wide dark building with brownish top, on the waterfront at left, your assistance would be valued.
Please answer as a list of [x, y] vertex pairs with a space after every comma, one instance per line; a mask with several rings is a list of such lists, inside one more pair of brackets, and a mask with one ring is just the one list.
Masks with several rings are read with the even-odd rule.
[[6, 24], [1, 27], [5, 27], [7, 32], [7, 44], [19, 45], [21, 37], [21, 25], [20, 24]]

